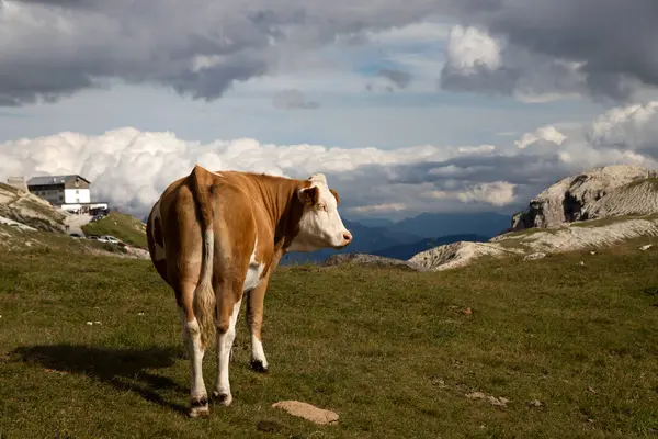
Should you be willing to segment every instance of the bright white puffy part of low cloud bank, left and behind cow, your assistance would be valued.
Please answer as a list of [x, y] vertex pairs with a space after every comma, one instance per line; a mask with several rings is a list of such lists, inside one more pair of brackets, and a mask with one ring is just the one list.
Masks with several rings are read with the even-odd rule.
[[[379, 167], [379, 175], [393, 178], [395, 166], [468, 154], [458, 149], [429, 145], [396, 150], [280, 146], [250, 138], [200, 144], [183, 140], [173, 133], [121, 128], [99, 136], [60, 133], [0, 144], [0, 177], [80, 173], [92, 181], [98, 201], [109, 201], [143, 215], [160, 192], [174, 179], [188, 175], [195, 162], [213, 170], [236, 169], [295, 178], [327, 172], [334, 176], [332, 182], [338, 188], [352, 188], [354, 182], [365, 183], [371, 178], [367, 167]], [[343, 199], [350, 201], [351, 196]], [[382, 203], [354, 212], [386, 210], [401, 211], [404, 204]]]

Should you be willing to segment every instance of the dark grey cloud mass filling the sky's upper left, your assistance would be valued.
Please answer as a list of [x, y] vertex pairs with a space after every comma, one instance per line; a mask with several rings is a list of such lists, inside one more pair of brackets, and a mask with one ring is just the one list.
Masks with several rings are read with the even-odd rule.
[[349, 0], [2, 0], [0, 104], [52, 102], [117, 81], [214, 100], [236, 82], [299, 71], [339, 36], [404, 27], [453, 1], [373, 9]]

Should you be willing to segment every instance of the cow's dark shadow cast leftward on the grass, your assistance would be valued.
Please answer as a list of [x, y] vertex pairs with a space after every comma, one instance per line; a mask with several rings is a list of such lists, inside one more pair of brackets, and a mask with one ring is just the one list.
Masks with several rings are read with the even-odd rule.
[[129, 390], [151, 403], [185, 413], [185, 407], [166, 401], [162, 393], [186, 394], [189, 390], [169, 378], [148, 371], [169, 368], [177, 359], [183, 358], [184, 353], [178, 347], [113, 349], [83, 345], [44, 345], [20, 347], [12, 353], [26, 363], [91, 376], [120, 391]]

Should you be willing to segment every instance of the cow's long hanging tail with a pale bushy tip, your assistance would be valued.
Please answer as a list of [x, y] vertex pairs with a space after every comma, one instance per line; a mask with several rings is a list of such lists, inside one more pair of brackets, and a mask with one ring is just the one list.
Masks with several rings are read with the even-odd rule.
[[209, 200], [209, 182], [207, 171], [198, 165], [191, 173], [191, 185], [198, 212], [201, 213], [201, 230], [203, 238], [203, 261], [198, 284], [194, 290], [194, 314], [201, 330], [202, 346], [208, 346], [216, 334], [216, 297], [213, 289], [213, 260], [215, 234], [213, 232], [214, 210]]

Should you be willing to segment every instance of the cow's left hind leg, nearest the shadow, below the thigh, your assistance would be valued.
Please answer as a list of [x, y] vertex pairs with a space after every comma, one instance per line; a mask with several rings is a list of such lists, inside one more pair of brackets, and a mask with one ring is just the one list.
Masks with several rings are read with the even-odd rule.
[[194, 284], [183, 284], [180, 291], [181, 301], [179, 311], [183, 328], [183, 344], [188, 350], [190, 361], [190, 410], [193, 418], [209, 415], [208, 396], [203, 381], [203, 356], [205, 346], [201, 342], [201, 330], [194, 315], [192, 300]]

